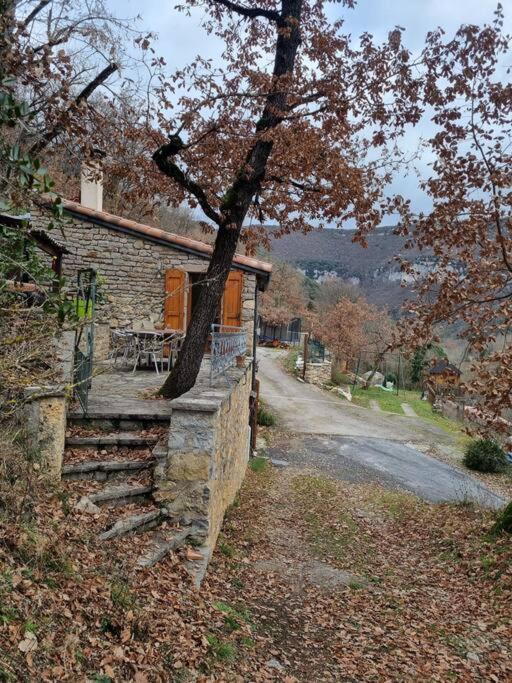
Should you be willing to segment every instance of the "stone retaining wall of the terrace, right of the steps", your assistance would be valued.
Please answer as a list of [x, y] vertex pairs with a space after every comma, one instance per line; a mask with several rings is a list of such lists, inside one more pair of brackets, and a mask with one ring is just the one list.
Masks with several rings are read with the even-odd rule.
[[212, 388], [198, 383], [173, 402], [167, 453], [155, 472], [155, 498], [171, 519], [195, 524], [209, 557], [249, 459], [251, 364]]

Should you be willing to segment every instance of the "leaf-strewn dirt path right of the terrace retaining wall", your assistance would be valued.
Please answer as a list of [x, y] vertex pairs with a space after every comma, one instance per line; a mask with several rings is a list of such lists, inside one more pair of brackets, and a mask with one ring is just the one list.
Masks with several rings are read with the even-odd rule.
[[211, 680], [510, 679], [509, 556], [489, 523], [311, 468], [249, 472], [207, 579], [224, 614]]

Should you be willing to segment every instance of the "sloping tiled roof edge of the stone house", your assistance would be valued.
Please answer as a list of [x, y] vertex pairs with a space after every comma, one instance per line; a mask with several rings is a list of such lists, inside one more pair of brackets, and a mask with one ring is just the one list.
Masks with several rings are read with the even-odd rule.
[[[128, 233], [159, 244], [169, 245], [180, 251], [193, 253], [203, 258], [209, 258], [213, 252], [213, 247], [210, 244], [200, 242], [199, 240], [193, 240], [183, 235], [175, 235], [166, 230], [137, 223], [136, 221], [122, 218], [106, 211], [96, 211], [78, 202], [72, 202], [69, 199], [63, 199], [62, 204], [67, 213], [80, 220], [103, 225], [112, 230]], [[243, 254], [235, 254], [233, 267], [237, 270], [256, 273], [263, 281], [262, 284], [265, 285], [270, 279], [270, 273], [272, 272], [272, 264], [251, 258], [250, 256], [244, 256]]]

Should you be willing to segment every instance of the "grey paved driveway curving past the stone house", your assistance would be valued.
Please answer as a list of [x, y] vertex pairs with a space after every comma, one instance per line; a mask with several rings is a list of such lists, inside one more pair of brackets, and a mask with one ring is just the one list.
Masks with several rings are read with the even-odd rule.
[[422, 450], [450, 445], [451, 437], [418, 418], [353, 406], [302, 384], [281, 368], [278, 354], [259, 350], [261, 395], [292, 433], [272, 457], [310, 465], [347, 481], [374, 481], [424, 500], [472, 500], [498, 508], [504, 501], [464, 471]]

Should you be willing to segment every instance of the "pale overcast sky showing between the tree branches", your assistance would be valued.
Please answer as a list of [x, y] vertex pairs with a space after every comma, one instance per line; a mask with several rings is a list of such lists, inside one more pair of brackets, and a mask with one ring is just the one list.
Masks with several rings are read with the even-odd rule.
[[[246, 4], [251, 3], [245, 0]], [[167, 61], [169, 70], [188, 63], [195, 55], [215, 57], [221, 49], [215, 38], [205, 34], [200, 26], [202, 11], [186, 17], [174, 10], [177, 0], [108, 0], [116, 14], [122, 17], [140, 15], [141, 26], [158, 35], [157, 52]], [[512, 2], [503, 2], [506, 29], [512, 33]], [[367, 31], [377, 41], [385, 40], [390, 29], [402, 26], [406, 29], [404, 44], [413, 52], [419, 51], [426, 33], [442, 26], [447, 36], [453, 34], [462, 23], [482, 24], [493, 19], [496, 0], [359, 0], [354, 10], [338, 3], [328, 3], [333, 18], [344, 17], [347, 33], [357, 38]], [[420, 136], [428, 135], [428, 126], [420, 126], [407, 136], [406, 144], [411, 150], [418, 146]], [[427, 160], [420, 163], [425, 170]], [[417, 187], [417, 177], [411, 173], [397, 178], [393, 191], [409, 197], [416, 210], [428, 208], [428, 202]]]

